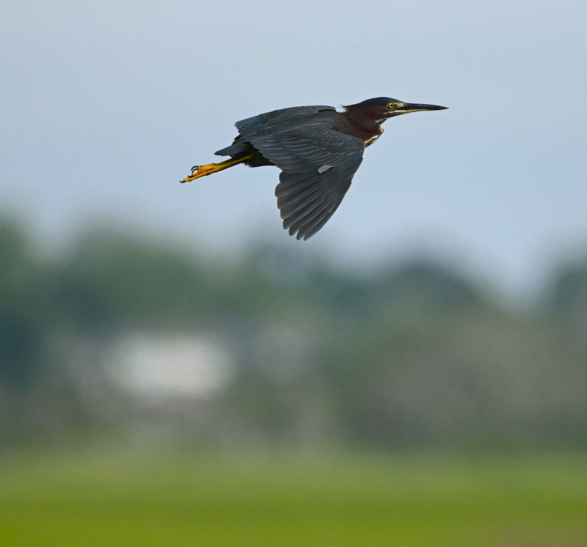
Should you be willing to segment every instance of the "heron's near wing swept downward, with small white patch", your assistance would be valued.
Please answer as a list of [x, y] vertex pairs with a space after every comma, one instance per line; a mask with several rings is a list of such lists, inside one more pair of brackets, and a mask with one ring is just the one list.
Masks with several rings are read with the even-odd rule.
[[336, 211], [363, 160], [362, 139], [323, 122], [245, 139], [282, 170], [275, 188], [284, 228], [308, 239]]

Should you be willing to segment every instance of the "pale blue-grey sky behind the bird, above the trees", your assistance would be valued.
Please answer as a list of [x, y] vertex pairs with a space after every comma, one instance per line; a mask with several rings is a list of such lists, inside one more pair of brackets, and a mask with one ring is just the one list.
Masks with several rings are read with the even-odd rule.
[[[424, 248], [528, 289], [587, 246], [585, 21], [564, 0], [4, 2], [2, 207], [55, 238], [101, 217], [353, 263]], [[236, 120], [382, 95], [450, 110], [387, 122], [309, 241], [281, 228], [276, 168], [177, 183]]]

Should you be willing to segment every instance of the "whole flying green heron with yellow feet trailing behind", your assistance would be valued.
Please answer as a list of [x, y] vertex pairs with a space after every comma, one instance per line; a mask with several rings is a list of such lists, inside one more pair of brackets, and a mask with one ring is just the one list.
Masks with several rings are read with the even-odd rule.
[[350, 187], [365, 148], [383, 133], [388, 118], [443, 110], [435, 104], [403, 103], [390, 97], [343, 107], [294, 106], [237, 121], [234, 142], [215, 152], [221, 163], [194, 166], [182, 183], [244, 163], [281, 169], [277, 207], [289, 235], [308, 239], [326, 224]]

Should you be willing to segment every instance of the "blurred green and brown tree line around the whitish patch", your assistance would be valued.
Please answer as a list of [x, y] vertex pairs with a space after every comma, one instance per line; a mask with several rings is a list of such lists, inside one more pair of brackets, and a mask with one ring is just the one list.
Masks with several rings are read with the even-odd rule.
[[[46, 255], [0, 221], [0, 434], [186, 443], [584, 446], [587, 256], [531, 310], [426, 259], [347, 271], [287, 239], [213, 258], [98, 230]], [[231, 374], [153, 400], [110, 379], [125, 332], [214, 333]], [[121, 364], [122, 366], [122, 364]]]

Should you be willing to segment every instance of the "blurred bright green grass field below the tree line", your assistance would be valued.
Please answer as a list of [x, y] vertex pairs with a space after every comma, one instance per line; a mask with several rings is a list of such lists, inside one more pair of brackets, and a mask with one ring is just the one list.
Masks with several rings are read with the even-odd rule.
[[0, 460], [0, 545], [587, 545], [587, 458]]

